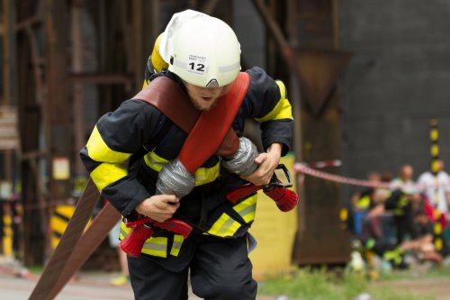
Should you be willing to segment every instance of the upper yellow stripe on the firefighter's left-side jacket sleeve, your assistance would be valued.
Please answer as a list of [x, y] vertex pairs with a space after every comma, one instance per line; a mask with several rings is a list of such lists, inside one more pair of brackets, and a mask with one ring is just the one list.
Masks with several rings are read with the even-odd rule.
[[94, 127], [89, 141], [86, 144], [89, 157], [99, 162], [125, 162], [130, 159], [131, 154], [125, 152], [114, 151], [103, 141], [97, 126]]

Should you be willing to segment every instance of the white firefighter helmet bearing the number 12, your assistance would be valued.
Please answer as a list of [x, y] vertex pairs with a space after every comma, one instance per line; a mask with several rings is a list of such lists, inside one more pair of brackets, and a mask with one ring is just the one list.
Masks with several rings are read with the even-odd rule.
[[240, 45], [233, 30], [207, 14], [185, 11], [178, 18], [180, 14], [190, 17], [173, 22], [175, 14], [161, 41], [168, 69], [194, 86], [226, 86], [233, 82], [240, 70]]

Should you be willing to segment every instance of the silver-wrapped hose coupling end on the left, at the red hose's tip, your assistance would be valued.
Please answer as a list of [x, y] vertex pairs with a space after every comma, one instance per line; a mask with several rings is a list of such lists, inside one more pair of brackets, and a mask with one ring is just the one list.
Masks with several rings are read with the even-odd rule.
[[191, 193], [195, 177], [189, 173], [179, 159], [174, 159], [161, 169], [157, 176], [157, 191], [166, 195], [183, 197]]

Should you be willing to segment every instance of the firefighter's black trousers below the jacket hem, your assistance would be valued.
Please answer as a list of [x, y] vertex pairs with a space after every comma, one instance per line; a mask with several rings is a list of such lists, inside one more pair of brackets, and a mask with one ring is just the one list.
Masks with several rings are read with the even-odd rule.
[[193, 294], [211, 300], [254, 300], [257, 282], [247, 256], [247, 239], [196, 241], [189, 267], [172, 272], [147, 255], [128, 258], [136, 300], [185, 300], [190, 269]]

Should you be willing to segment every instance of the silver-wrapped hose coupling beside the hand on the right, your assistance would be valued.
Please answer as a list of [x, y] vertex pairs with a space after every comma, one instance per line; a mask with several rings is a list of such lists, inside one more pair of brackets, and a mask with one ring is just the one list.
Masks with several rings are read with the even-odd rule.
[[241, 137], [236, 153], [231, 159], [222, 159], [222, 165], [231, 173], [247, 176], [255, 172], [258, 167], [255, 163], [257, 155], [257, 146], [247, 138]]

